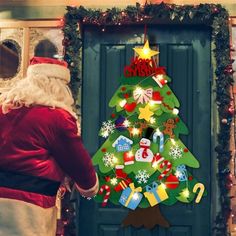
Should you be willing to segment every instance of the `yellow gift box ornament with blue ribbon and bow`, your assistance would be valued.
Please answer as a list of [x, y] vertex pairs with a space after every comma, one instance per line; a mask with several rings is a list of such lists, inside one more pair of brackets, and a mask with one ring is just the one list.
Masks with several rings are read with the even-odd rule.
[[144, 196], [147, 198], [151, 206], [155, 206], [169, 198], [164, 186], [158, 185], [156, 182], [153, 182], [151, 186], [146, 186]]

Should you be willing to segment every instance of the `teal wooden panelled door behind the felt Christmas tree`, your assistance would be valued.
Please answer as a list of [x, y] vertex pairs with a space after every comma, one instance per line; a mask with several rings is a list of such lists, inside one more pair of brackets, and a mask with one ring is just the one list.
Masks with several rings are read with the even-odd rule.
[[[104, 141], [98, 132], [111, 114], [108, 102], [142, 33], [142, 26], [113, 27], [106, 32], [92, 26], [84, 28], [82, 136], [91, 155]], [[149, 27], [148, 35], [150, 43], [160, 46], [160, 65], [166, 66], [172, 78], [170, 86], [181, 102], [180, 115], [190, 130], [190, 135], [181, 139], [201, 163], [201, 168], [192, 173], [204, 182], [208, 196], [200, 204], [161, 206], [172, 227], [151, 231], [122, 228], [127, 210], [120, 206], [102, 208], [94, 201], [80, 199], [80, 236], [211, 235], [210, 31], [198, 26], [158, 25]]]

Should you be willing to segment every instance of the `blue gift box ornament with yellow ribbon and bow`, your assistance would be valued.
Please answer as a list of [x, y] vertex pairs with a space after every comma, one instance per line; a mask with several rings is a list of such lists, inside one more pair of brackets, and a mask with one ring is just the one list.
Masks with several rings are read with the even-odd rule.
[[123, 190], [119, 203], [131, 210], [135, 210], [143, 198], [141, 192], [141, 187], [135, 188], [134, 183], [130, 183], [129, 187]]

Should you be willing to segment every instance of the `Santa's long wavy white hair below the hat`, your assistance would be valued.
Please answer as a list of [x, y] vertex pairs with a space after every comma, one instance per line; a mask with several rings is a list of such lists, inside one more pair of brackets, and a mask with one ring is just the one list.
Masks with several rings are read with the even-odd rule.
[[0, 89], [0, 104], [4, 114], [22, 106], [43, 105], [63, 108], [77, 118], [74, 99], [67, 81], [44, 74], [28, 74], [10, 87]]

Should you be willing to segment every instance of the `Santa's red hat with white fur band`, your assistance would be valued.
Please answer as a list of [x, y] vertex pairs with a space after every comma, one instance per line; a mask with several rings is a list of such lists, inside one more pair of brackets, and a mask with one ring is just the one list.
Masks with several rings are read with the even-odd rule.
[[27, 76], [40, 74], [70, 82], [70, 71], [65, 61], [48, 57], [33, 57], [27, 69]]

